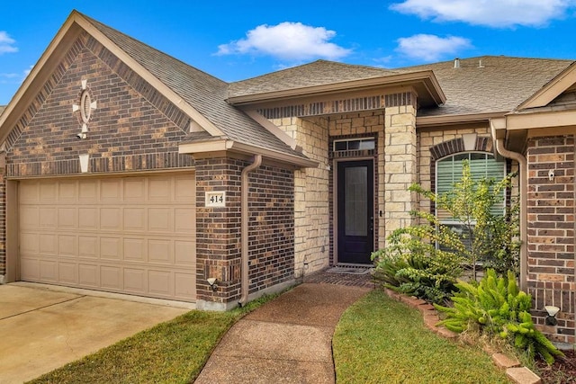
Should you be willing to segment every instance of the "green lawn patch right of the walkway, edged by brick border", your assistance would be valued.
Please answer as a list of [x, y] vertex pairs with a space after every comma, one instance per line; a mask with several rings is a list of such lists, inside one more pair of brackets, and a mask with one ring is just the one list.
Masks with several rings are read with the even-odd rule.
[[437, 336], [382, 290], [347, 309], [333, 351], [338, 384], [509, 382], [482, 350]]

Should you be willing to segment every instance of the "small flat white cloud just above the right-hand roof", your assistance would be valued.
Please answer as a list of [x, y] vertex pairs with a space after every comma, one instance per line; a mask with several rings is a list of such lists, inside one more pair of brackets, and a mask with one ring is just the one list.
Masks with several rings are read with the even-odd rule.
[[468, 39], [456, 36], [441, 38], [436, 35], [418, 34], [397, 40], [396, 51], [410, 58], [437, 61], [447, 54], [454, 55], [459, 49], [472, 48]]

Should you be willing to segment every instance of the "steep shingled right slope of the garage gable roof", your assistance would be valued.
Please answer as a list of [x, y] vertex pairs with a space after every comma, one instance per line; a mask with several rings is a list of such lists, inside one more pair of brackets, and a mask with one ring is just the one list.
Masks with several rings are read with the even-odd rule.
[[[301, 156], [282, 140], [226, 102], [228, 83], [172, 58], [157, 49], [130, 38], [84, 14], [98, 31], [134, 58], [158, 80], [170, 87], [226, 136], [239, 143], [265, 147], [284, 154]], [[195, 137], [191, 136], [193, 140]], [[185, 140], [185, 139], [184, 139]]]

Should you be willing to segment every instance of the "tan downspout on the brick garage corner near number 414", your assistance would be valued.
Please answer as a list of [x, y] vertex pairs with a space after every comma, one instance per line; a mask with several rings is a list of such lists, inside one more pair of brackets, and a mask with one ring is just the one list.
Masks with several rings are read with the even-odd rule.
[[240, 262], [240, 299], [238, 304], [240, 307], [244, 306], [248, 300], [248, 174], [257, 169], [262, 164], [262, 155], [255, 155], [254, 162], [247, 165], [242, 170], [241, 191], [240, 191], [240, 247], [241, 247], [241, 262]]

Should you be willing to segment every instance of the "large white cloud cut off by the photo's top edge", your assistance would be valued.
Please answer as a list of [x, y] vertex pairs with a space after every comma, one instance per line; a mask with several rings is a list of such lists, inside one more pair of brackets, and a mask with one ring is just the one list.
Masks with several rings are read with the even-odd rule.
[[543, 26], [563, 18], [575, 5], [574, 0], [405, 0], [390, 8], [435, 22], [506, 28]]

